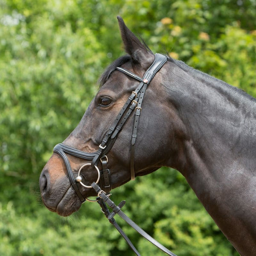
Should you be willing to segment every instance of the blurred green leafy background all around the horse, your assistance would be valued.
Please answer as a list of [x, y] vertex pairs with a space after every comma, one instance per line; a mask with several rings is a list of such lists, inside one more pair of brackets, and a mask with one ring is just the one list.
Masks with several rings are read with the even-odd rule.
[[[97, 79], [125, 54], [116, 16], [153, 52], [256, 96], [256, 0], [0, 0], [0, 255], [129, 256], [85, 203], [49, 212], [41, 169], [76, 127]], [[124, 211], [178, 256], [237, 256], [179, 172], [161, 168], [113, 190]], [[143, 255], [165, 255], [118, 217]]]

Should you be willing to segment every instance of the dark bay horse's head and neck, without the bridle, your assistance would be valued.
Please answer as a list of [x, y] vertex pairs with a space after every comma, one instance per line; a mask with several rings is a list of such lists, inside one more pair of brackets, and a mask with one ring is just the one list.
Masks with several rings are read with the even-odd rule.
[[[62, 144], [89, 152], [84, 153], [85, 159], [67, 154], [74, 176], [88, 163], [81, 170], [81, 179], [87, 186], [98, 177], [89, 159], [95, 159], [96, 151], [105, 150], [100, 144], [106, 131], [140, 84], [116, 68], [143, 77], [155, 58], [120, 17], [118, 20], [128, 55], [114, 61], [102, 75], [99, 92]], [[125, 111], [127, 114], [129, 109]], [[131, 134], [137, 111], [140, 121], [132, 149]], [[136, 107], [135, 114], [127, 119], [109, 147], [111, 188], [131, 180], [131, 157], [135, 176], [154, 172], [161, 166], [181, 172], [236, 250], [242, 256], [256, 255], [256, 100], [253, 97], [168, 57], [148, 85], [143, 105]], [[52, 154], [41, 173], [40, 188], [45, 206], [67, 216], [79, 209], [81, 196], [87, 198], [96, 193], [80, 183], [77, 183], [79, 192], [73, 189], [63, 159], [58, 152]], [[101, 169], [100, 161], [94, 161], [92, 166]]]

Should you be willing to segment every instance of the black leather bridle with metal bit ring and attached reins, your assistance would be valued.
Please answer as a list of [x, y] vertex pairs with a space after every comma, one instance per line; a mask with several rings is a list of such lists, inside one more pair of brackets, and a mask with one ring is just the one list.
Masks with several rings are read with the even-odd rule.
[[[118, 226], [116, 221], [114, 220], [113, 216], [117, 213], [119, 214], [128, 224], [131, 225], [137, 232], [139, 232], [142, 236], [144, 236], [148, 241], [151, 241], [154, 245], [159, 247], [161, 250], [166, 252], [168, 255], [175, 256], [174, 253], [169, 251], [166, 247], [159, 244], [156, 240], [154, 240], [151, 236], [149, 236], [147, 233], [145, 233], [144, 230], [142, 230], [137, 224], [135, 224], [131, 219], [129, 219], [122, 211], [121, 207], [125, 204], [125, 201], [122, 201], [118, 206], [116, 206], [113, 201], [109, 198], [110, 191], [111, 191], [111, 173], [108, 169], [108, 157], [107, 154], [111, 150], [117, 135], [122, 129], [122, 126], [127, 121], [128, 117], [131, 115], [131, 113], [135, 109], [135, 115], [134, 115], [134, 126], [131, 136], [131, 156], [130, 156], [130, 166], [131, 166], [131, 180], [135, 179], [135, 173], [134, 173], [134, 152], [135, 152], [135, 143], [137, 139], [137, 131], [138, 131], [138, 125], [139, 125], [139, 119], [140, 119], [140, 113], [142, 109], [142, 102], [143, 97], [145, 95], [145, 90], [148, 87], [148, 84], [151, 82], [151, 80], [154, 78], [155, 74], [163, 67], [163, 65], [166, 63], [167, 57], [156, 53], [155, 58], [151, 66], [148, 68], [148, 70], [145, 72], [143, 78], [140, 76], [137, 76], [136, 74], [132, 73], [129, 70], [126, 70], [122, 67], [116, 67], [116, 70], [121, 71], [122, 73], [125, 73], [128, 76], [131, 76], [134, 79], [137, 79], [140, 81], [140, 84], [137, 86], [136, 90], [134, 90], [131, 95], [128, 97], [127, 101], [123, 105], [122, 109], [119, 111], [118, 115], [116, 116], [116, 119], [106, 132], [105, 136], [102, 139], [102, 142], [99, 145], [99, 149], [94, 153], [87, 153], [84, 151], [80, 151], [76, 148], [72, 148], [68, 145], [64, 145], [62, 143], [55, 145], [53, 148], [53, 151], [58, 153], [61, 158], [64, 160], [64, 163], [67, 168], [68, 176], [70, 179], [70, 183], [72, 184], [74, 190], [76, 191], [76, 194], [78, 195], [81, 202], [84, 201], [97, 201], [100, 206], [102, 207], [102, 211], [105, 213], [108, 220], [113, 224], [116, 229], [119, 231], [119, 233], [125, 238], [128, 245], [131, 247], [131, 249], [136, 253], [138, 256], [140, 255], [136, 248], [133, 246], [131, 241], [128, 239], [128, 237], [123, 233], [122, 229]], [[67, 158], [66, 154], [73, 155], [75, 157], [79, 157], [85, 160], [91, 160], [91, 163], [86, 163], [83, 166], [80, 167], [78, 176], [74, 177], [74, 174], [72, 172], [72, 168], [70, 165], [70, 162]], [[102, 170], [99, 170], [97, 165], [101, 161], [102, 163]], [[95, 182], [93, 182], [90, 186], [85, 185], [82, 182], [82, 177], [80, 175], [81, 169], [83, 169], [85, 166], [92, 166], [96, 169], [98, 173], [98, 178]], [[97, 183], [100, 182], [100, 187], [97, 185]], [[84, 198], [79, 190], [78, 183], [80, 183], [82, 186], [86, 188], [93, 188], [97, 194], [98, 198], [96, 200], [90, 200], [88, 198]], [[108, 207], [106, 206], [107, 203], [109, 207], [113, 209], [113, 212], [110, 213], [108, 210]]]

